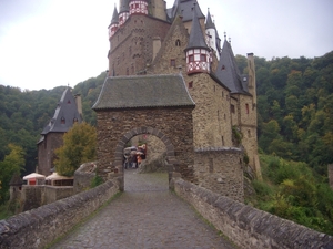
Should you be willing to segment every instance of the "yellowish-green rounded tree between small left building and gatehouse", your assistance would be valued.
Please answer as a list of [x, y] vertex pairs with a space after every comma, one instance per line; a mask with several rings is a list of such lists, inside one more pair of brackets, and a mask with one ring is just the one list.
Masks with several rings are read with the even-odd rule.
[[88, 123], [75, 123], [63, 135], [63, 146], [56, 149], [56, 170], [62, 176], [73, 176], [83, 163], [95, 159], [97, 131]]

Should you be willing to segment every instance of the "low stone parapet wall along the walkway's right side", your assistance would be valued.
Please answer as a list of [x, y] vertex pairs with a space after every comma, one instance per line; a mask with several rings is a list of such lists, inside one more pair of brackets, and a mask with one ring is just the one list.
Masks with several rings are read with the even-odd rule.
[[181, 178], [172, 179], [175, 193], [240, 248], [333, 248], [333, 237], [279, 218]]

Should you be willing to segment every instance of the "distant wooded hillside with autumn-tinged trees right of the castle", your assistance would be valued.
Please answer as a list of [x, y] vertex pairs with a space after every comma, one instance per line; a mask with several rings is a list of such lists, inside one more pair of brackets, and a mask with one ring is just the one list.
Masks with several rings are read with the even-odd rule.
[[[333, 163], [333, 51], [315, 59], [254, 59], [259, 147], [325, 176]], [[236, 60], [243, 64], [244, 56]]]

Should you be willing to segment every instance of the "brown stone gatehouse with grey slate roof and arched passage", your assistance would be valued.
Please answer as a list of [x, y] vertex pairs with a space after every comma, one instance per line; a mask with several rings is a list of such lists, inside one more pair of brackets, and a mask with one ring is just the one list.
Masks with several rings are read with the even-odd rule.
[[97, 112], [98, 174], [122, 176], [125, 144], [140, 134], [159, 137], [167, 147], [169, 176], [178, 172], [193, 180], [195, 107], [181, 75], [108, 77], [93, 110]]

